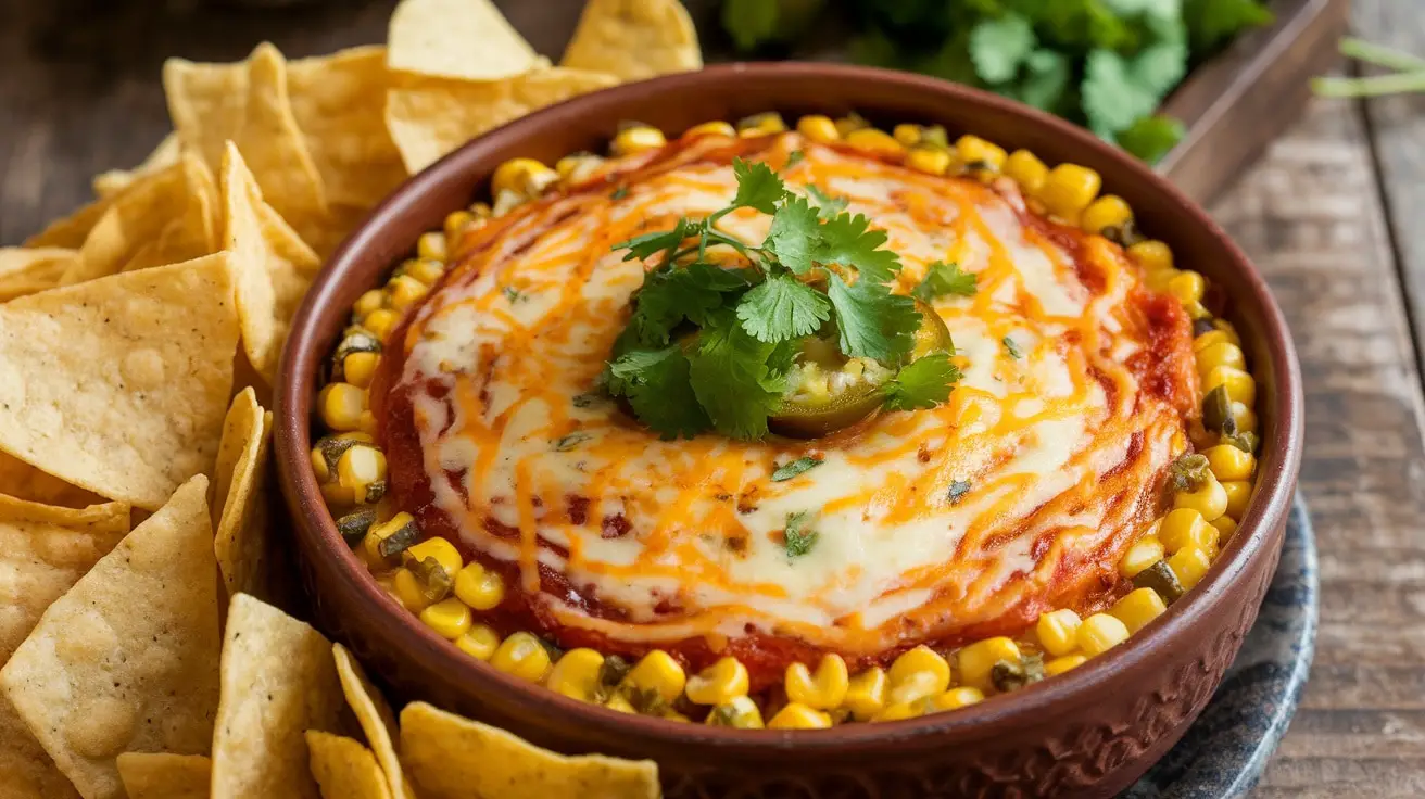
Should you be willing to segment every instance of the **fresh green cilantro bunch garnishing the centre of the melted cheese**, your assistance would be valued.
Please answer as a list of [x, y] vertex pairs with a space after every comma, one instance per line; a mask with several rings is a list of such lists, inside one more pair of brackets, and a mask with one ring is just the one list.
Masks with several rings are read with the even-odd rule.
[[[657, 266], [634, 295], [604, 389], [665, 439], [705, 430], [761, 439], [782, 407], [802, 343], [834, 329], [846, 357], [899, 367], [882, 387], [884, 407], [945, 402], [959, 379], [950, 353], [903, 363], [922, 318], [912, 298], [886, 285], [901, 271], [899, 256], [885, 248], [886, 234], [846, 212], [845, 201], [812, 189], [814, 204], [788, 191], [765, 164], [734, 160], [732, 171], [737, 195], [725, 208], [614, 245], [627, 251], [624, 261], [653, 259]], [[741, 208], [771, 215], [761, 244], [717, 229], [718, 219]], [[740, 265], [710, 259], [715, 246], [735, 251]], [[950, 286], [926, 288], [931, 296], [966, 293], [965, 273], [948, 265], [931, 272]], [[968, 278], [972, 291], [973, 275]]]

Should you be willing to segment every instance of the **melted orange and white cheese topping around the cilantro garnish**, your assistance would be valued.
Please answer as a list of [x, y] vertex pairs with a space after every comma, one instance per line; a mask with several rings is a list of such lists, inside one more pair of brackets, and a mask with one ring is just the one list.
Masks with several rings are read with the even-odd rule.
[[[1121, 251], [1032, 219], [1012, 191], [797, 134], [747, 155], [779, 167], [802, 150], [788, 185], [888, 231], [901, 291], [938, 259], [978, 275], [973, 298], [935, 303], [965, 373], [940, 407], [815, 442], [663, 442], [594, 393], [646, 269], [610, 245], [725, 205], [730, 158], [750, 145], [732, 147], [616, 162], [604, 177], [624, 177], [624, 197], [550, 198], [480, 234], [418, 312], [393, 386], [413, 407], [425, 510], [517, 570], [551, 625], [637, 645], [755, 632], [865, 658], [1022, 627], [1112, 585], [1196, 397], [1147, 392], [1130, 366], [1153, 329]], [[760, 242], [768, 222], [738, 212], [722, 228]], [[805, 454], [824, 463], [771, 481]], [[782, 537], [794, 513], [818, 533], [801, 557]], [[542, 571], [564, 590], [542, 591]]]

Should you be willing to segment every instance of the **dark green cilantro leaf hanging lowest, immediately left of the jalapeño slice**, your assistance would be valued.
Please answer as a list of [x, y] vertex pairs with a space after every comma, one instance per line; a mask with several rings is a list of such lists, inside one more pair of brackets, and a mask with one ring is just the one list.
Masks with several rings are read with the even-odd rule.
[[712, 424], [734, 439], [767, 436], [767, 417], [781, 406], [787, 377], [768, 367], [781, 345], [754, 339], [731, 310], [710, 316], [700, 342], [688, 377]]

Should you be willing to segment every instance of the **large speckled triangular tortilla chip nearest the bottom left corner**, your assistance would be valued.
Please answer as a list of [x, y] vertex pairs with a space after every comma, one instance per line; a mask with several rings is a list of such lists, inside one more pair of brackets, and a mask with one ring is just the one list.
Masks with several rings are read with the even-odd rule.
[[208, 479], [185, 483], [56, 601], [0, 669], [30, 732], [86, 799], [123, 798], [115, 758], [208, 751], [218, 585]]

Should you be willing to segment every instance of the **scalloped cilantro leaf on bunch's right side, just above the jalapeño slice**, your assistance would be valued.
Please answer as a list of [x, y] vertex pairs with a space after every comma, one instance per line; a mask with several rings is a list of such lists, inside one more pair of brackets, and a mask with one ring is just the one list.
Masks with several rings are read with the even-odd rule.
[[911, 352], [921, 326], [915, 301], [865, 278], [851, 285], [835, 272], [828, 278], [826, 296], [836, 309], [841, 352], [882, 362]]

